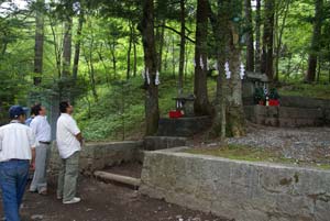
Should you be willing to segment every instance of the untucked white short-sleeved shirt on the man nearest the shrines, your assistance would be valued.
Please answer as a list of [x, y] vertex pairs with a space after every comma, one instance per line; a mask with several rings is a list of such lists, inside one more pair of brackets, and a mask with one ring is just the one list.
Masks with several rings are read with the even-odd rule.
[[80, 133], [77, 122], [70, 114], [62, 113], [57, 120], [56, 143], [62, 158], [68, 158], [80, 151], [80, 143], [76, 135]]

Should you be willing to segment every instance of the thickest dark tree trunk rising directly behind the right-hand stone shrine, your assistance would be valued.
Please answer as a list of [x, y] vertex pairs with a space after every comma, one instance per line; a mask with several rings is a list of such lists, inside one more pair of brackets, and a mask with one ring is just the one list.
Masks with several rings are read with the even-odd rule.
[[270, 80], [274, 78], [273, 71], [273, 38], [274, 38], [274, 11], [275, 0], [265, 0], [265, 19], [263, 35], [262, 73], [265, 73]]

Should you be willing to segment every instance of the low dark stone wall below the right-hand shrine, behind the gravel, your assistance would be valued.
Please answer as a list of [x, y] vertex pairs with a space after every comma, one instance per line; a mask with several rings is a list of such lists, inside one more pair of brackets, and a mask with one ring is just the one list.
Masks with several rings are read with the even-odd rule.
[[[328, 117], [320, 108], [245, 106], [245, 117], [253, 123], [272, 126], [319, 126]], [[330, 120], [330, 119], [329, 119]]]

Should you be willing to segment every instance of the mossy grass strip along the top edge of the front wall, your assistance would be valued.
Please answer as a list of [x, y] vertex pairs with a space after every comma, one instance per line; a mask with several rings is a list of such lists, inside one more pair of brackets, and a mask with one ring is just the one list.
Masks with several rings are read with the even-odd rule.
[[300, 165], [318, 169], [330, 169], [330, 164], [317, 164], [314, 162], [300, 162], [293, 158], [285, 158], [280, 153], [272, 150], [256, 148], [246, 145], [228, 144], [219, 147], [188, 148], [184, 151], [189, 154], [210, 155], [229, 159], [246, 162], [270, 162], [279, 164]]

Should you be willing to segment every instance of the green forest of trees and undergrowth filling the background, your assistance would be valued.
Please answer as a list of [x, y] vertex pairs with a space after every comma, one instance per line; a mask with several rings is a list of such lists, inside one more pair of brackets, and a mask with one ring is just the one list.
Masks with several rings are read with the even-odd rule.
[[329, 98], [329, 0], [0, 0], [0, 121], [69, 100], [88, 141], [127, 140], [194, 95], [210, 136], [241, 136], [242, 73]]

